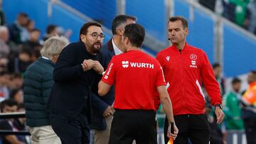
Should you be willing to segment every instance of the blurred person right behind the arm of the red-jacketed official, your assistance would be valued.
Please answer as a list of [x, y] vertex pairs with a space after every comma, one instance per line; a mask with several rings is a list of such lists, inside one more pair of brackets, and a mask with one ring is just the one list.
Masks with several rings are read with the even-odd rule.
[[219, 86], [220, 86], [220, 94], [223, 96], [225, 94], [225, 79], [221, 77], [222, 67], [219, 63], [213, 64], [213, 73], [215, 76], [215, 79], [217, 80]]

